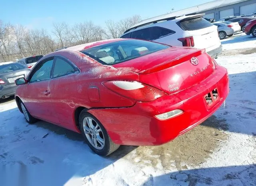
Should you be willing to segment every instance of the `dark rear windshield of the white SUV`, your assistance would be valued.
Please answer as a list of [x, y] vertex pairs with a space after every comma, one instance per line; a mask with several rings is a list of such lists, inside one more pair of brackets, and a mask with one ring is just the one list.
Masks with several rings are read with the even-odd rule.
[[192, 18], [185, 21], [181, 20], [178, 25], [183, 30], [199, 30], [202, 28], [207, 28], [212, 26], [212, 24], [206, 21], [204, 18]]

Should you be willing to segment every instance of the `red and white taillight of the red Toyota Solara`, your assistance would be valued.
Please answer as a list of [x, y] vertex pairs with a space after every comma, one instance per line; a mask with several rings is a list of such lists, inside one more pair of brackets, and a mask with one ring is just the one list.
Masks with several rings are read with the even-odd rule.
[[113, 92], [141, 102], [149, 102], [166, 95], [163, 91], [138, 81], [105, 81], [102, 83]]

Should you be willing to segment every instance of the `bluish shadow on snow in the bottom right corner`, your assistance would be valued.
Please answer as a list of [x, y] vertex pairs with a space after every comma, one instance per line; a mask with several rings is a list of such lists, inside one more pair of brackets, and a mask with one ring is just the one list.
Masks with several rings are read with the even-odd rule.
[[256, 185], [256, 164], [182, 170], [149, 176], [144, 186], [158, 185]]

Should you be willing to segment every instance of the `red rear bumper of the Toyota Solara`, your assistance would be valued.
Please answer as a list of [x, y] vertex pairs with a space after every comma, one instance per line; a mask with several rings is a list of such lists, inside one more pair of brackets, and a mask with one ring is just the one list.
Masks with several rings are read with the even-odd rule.
[[[203, 85], [203, 86], [202, 86]], [[210, 106], [204, 96], [218, 89], [218, 99]], [[229, 92], [228, 73], [218, 66], [200, 84], [174, 95], [166, 95], [148, 103], [137, 102], [129, 108], [90, 109], [117, 144], [160, 145], [199, 125], [224, 102]], [[155, 115], [181, 109], [183, 113], [160, 121]]]

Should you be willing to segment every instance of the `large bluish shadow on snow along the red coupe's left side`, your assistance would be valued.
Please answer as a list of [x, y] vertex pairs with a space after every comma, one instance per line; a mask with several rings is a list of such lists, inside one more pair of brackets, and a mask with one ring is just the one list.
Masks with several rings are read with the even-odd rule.
[[0, 121], [1, 186], [64, 185], [70, 178], [103, 170], [137, 148], [120, 146], [110, 156], [98, 156], [82, 135], [44, 121], [28, 124], [18, 108], [1, 112]]

